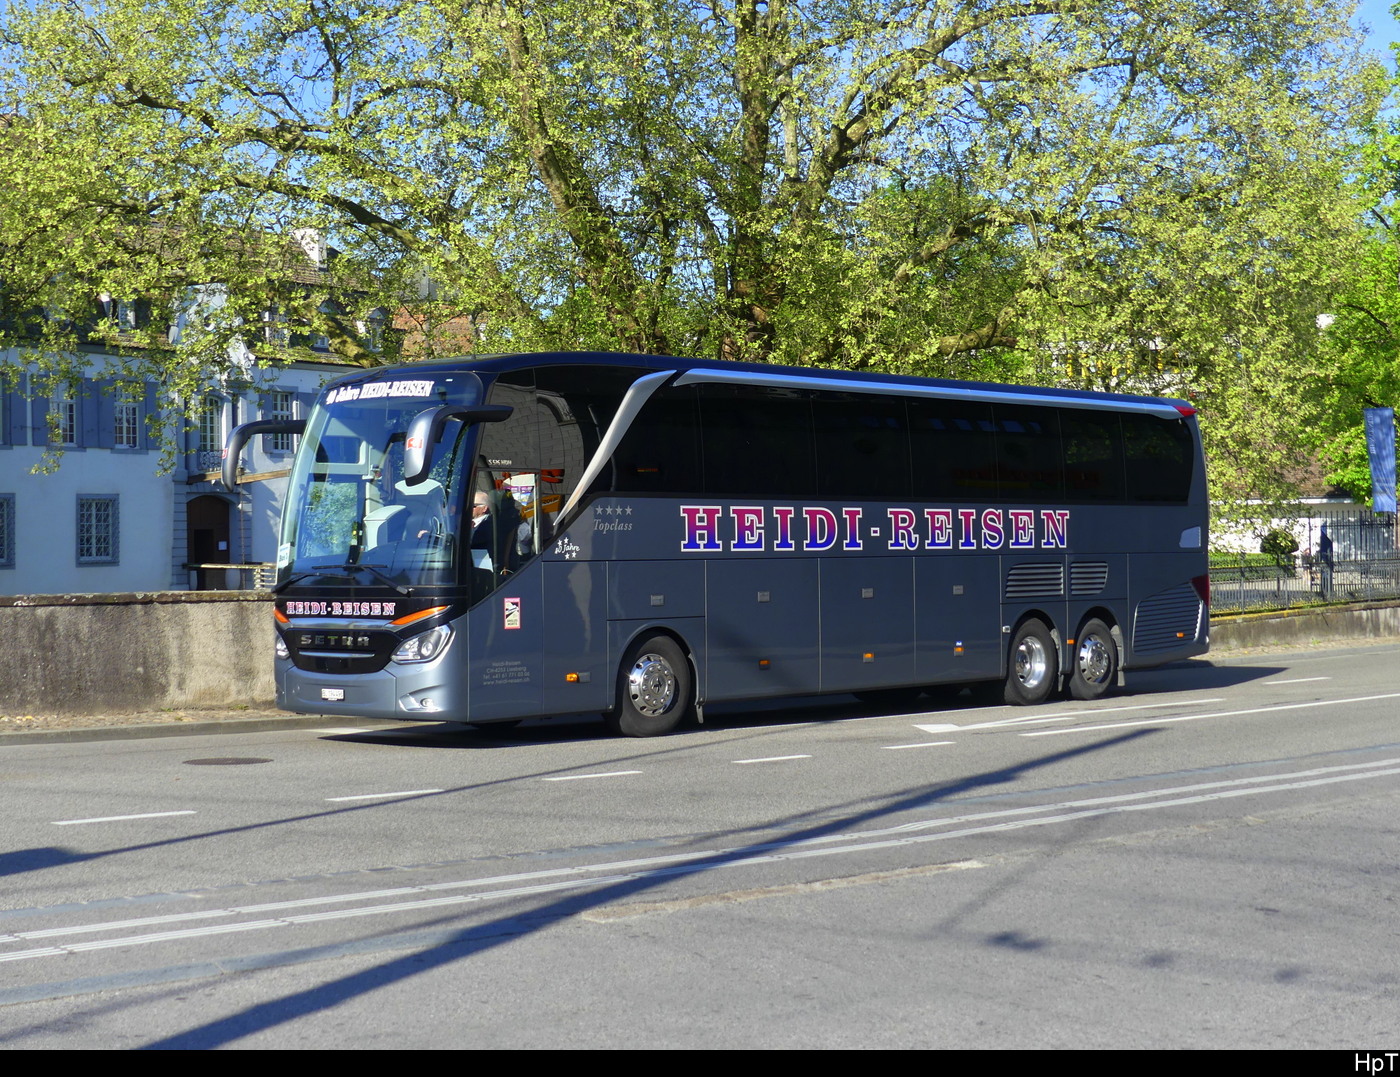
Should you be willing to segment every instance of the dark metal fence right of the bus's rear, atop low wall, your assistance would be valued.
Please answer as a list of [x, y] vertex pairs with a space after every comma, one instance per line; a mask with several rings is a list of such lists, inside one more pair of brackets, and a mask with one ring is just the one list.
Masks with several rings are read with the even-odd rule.
[[1217, 613], [1400, 598], [1400, 549], [1390, 513], [1277, 521], [1298, 549], [1212, 553], [1211, 609]]

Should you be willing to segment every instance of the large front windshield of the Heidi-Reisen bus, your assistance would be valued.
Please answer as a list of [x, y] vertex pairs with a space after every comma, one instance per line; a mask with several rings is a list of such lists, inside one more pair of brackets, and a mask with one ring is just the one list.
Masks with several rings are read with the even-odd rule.
[[405, 476], [413, 419], [482, 402], [469, 371], [396, 371], [332, 387], [307, 423], [277, 548], [279, 584], [309, 577], [361, 585], [452, 585], [465, 576], [458, 534], [476, 429], [447, 423], [424, 479]]

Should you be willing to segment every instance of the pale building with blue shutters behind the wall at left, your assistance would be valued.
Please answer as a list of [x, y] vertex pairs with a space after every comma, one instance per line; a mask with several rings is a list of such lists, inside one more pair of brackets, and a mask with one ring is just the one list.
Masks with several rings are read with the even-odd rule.
[[[17, 352], [0, 359], [24, 368]], [[104, 378], [106, 363], [91, 354], [77, 392], [60, 396], [35, 396], [29, 374], [0, 382], [0, 594], [249, 585], [249, 570], [193, 566], [274, 560], [295, 438], [253, 438], [246, 472], [266, 480], [234, 493], [218, 483], [224, 440], [238, 423], [304, 417], [346, 367], [328, 356], [253, 368], [248, 384], [209, 394], [186, 429], [162, 417], [155, 385], [122, 401]], [[161, 423], [176, 450], [165, 473]], [[35, 473], [56, 450], [59, 466]]]

